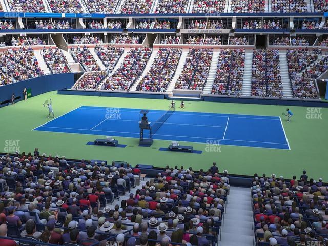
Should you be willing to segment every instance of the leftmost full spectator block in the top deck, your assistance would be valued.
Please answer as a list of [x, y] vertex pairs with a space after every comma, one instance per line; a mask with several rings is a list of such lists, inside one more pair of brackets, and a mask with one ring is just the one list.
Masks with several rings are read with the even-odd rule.
[[46, 13], [43, 0], [8, 0], [11, 12]]

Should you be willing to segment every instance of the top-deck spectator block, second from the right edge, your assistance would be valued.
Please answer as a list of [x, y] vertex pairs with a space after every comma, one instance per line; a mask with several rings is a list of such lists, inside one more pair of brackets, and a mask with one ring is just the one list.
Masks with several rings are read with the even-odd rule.
[[271, 11], [274, 13], [306, 13], [306, 0], [272, 0]]

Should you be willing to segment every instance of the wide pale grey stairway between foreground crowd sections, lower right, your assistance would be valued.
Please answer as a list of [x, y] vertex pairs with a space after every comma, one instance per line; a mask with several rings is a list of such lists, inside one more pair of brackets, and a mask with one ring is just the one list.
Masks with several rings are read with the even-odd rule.
[[230, 187], [229, 203], [224, 215], [220, 246], [253, 245], [252, 202], [250, 189]]

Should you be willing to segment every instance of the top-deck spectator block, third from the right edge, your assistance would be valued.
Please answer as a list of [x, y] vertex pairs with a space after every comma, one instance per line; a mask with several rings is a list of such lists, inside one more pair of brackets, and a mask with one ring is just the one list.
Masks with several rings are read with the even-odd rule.
[[232, 13], [262, 13], [265, 12], [264, 0], [231, 0]]

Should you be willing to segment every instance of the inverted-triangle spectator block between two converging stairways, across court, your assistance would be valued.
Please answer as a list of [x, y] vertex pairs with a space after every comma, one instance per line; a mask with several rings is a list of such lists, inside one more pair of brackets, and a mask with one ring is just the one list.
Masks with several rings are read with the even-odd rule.
[[113, 46], [101, 46], [96, 45], [95, 51], [97, 56], [104, 64], [108, 72], [112, 72], [117, 61], [121, 57], [124, 52], [124, 48], [121, 47], [113, 47]]

